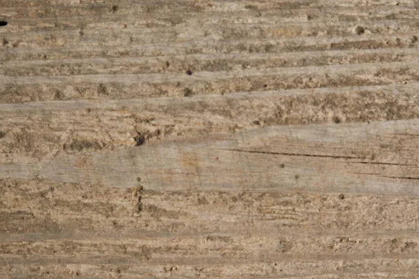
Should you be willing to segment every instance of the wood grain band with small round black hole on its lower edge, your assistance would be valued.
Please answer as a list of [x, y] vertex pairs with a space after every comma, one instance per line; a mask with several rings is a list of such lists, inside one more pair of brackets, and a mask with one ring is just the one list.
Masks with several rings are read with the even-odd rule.
[[237, 68], [290, 68], [325, 65], [351, 65], [358, 63], [385, 63], [389, 61], [411, 61], [419, 49], [378, 49], [374, 51], [325, 51], [285, 54], [191, 54], [166, 57], [115, 57], [91, 59], [13, 60], [3, 63], [0, 73], [8, 77], [57, 76], [92, 74], [141, 74], [183, 73], [184, 68], [193, 66], [195, 71], [216, 72]]

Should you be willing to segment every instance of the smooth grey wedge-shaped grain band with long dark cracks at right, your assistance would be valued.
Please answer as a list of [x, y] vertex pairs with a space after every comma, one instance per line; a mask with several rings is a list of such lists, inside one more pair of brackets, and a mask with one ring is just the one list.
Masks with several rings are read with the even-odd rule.
[[[206, 140], [57, 154], [6, 177], [153, 190], [298, 190], [419, 196], [419, 121], [260, 128]], [[332, 171], [331, 171], [332, 170]]]

